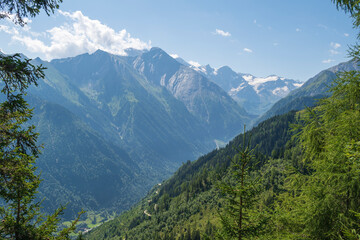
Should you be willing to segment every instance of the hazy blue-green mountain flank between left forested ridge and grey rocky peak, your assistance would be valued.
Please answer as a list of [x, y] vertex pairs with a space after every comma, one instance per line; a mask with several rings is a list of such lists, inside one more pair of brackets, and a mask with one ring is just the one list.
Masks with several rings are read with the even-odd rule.
[[102, 112], [115, 141], [142, 167], [166, 175], [213, 145], [183, 103], [146, 81], [123, 57], [97, 51], [51, 64]]

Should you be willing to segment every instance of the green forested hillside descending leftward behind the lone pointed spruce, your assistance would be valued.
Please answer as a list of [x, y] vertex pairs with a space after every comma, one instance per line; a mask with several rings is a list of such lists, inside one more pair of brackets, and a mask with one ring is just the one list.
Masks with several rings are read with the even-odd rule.
[[[271, 202], [282, 179], [283, 163], [271, 160], [283, 157], [293, 132], [290, 124], [296, 115], [290, 112], [269, 119], [247, 133], [256, 147], [253, 168], [266, 175], [264, 201]], [[87, 239], [203, 239], [214, 237], [219, 226], [217, 211], [222, 205], [216, 188], [218, 176], [224, 175], [230, 159], [242, 145], [242, 134], [225, 148], [214, 150], [197, 161], [187, 162], [163, 184], [131, 210], [93, 229]], [[255, 164], [256, 162], [256, 164]]]

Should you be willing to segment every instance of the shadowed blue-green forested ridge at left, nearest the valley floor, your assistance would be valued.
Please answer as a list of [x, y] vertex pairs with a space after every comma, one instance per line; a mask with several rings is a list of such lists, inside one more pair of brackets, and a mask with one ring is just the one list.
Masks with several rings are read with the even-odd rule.
[[[103, 139], [58, 104], [31, 98], [32, 123], [44, 149], [37, 160], [44, 180], [39, 198], [44, 210], [67, 205], [67, 219], [87, 211], [122, 211], [150, 186], [147, 175], [120, 147]], [[131, 194], [129, 194], [131, 193]]]

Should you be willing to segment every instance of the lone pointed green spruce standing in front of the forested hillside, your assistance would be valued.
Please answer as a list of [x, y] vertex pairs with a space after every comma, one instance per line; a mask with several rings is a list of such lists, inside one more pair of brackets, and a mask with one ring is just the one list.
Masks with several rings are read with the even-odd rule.
[[218, 239], [249, 239], [261, 233], [265, 217], [256, 208], [261, 184], [259, 178], [251, 176], [253, 159], [244, 127], [243, 146], [231, 159], [229, 174], [219, 184], [225, 207], [219, 211], [222, 228], [217, 233]]

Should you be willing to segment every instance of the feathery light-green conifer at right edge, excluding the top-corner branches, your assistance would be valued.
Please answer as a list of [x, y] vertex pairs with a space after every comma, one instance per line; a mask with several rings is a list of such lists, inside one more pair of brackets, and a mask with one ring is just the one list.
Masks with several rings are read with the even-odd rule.
[[[360, 74], [341, 73], [332, 96], [309, 110], [300, 134], [310, 175], [297, 175], [309, 238], [337, 239], [360, 211]], [[296, 176], [296, 175], [295, 175]], [[294, 181], [294, 180], [293, 180]]]

